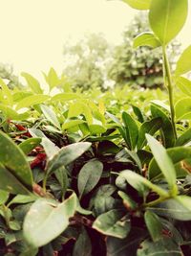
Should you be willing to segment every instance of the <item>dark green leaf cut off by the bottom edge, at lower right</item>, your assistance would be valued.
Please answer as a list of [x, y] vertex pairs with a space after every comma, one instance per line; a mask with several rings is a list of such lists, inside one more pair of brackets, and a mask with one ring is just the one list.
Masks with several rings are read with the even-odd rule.
[[155, 243], [149, 240], [141, 243], [137, 256], [182, 256], [182, 252], [172, 239], [161, 238]]

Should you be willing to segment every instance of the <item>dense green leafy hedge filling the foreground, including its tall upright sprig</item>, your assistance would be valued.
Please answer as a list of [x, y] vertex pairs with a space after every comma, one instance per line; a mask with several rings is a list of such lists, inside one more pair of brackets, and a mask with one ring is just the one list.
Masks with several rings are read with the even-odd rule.
[[[0, 80], [0, 255], [190, 255], [190, 49], [173, 75], [165, 51], [187, 1], [172, 1], [149, 10], [168, 94], [74, 92], [53, 68], [48, 90], [27, 73], [26, 91]], [[160, 3], [166, 21], [182, 11], [168, 37], [152, 18]]]

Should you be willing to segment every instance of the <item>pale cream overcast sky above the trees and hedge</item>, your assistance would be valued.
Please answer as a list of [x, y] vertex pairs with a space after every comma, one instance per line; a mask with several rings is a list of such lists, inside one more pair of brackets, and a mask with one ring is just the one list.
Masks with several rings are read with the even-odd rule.
[[[0, 62], [41, 76], [53, 66], [63, 67], [64, 41], [85, 32], [102, 32], [114, 43], [138, 11], [120, 0], [0, 0]], [[191, 9], [180, 34], [191, 44]], [[175, 24], [176, 26], [176, 24]]]

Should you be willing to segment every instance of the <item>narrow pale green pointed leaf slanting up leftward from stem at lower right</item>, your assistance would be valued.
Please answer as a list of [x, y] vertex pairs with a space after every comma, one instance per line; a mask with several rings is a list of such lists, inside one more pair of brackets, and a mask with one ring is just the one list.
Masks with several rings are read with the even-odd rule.
[[154, 137], [149, 134], [146, 134], [146, 138], [149, 144], [151, 151], [156, 159], [156, 162], [159, 165], [159, 169], [166, 178], [166, 181], [169, 184], [172, 192], [177, 193], [176, 185], [176, 171], [173, 165], [171, 158], [168, 156], [168, 153], [162, 147], [162, 145]]

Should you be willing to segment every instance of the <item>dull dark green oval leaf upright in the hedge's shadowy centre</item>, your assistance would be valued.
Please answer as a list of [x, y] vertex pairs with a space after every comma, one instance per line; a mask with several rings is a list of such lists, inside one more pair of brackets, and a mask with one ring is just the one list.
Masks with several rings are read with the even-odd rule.
[[96, 159], [86, 163], [79, 172], [77, 188], [79, 198], [91, 192], [99, 181], [103, 172], [103, 164]]

